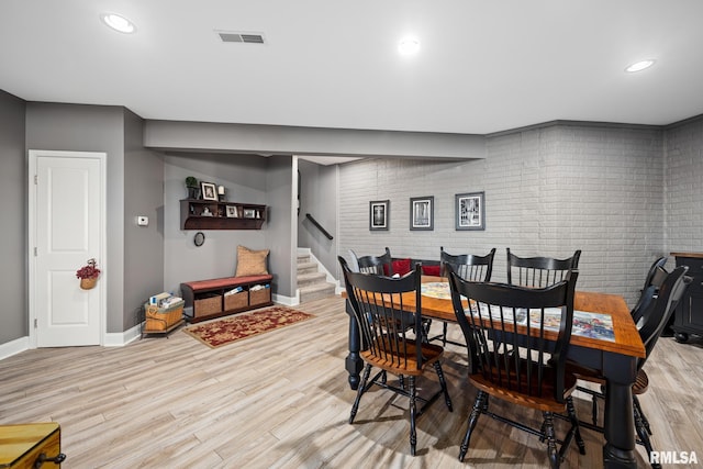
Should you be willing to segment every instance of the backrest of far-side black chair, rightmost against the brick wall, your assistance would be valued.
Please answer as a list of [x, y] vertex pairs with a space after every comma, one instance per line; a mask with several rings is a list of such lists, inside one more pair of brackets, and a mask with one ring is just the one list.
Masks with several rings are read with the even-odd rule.
[[506, 248], [507, 283], [544, 288], [563, 280], [568, 272], [579, 268], [581, 249], [567, 259], [551, 257], [517, 257]]

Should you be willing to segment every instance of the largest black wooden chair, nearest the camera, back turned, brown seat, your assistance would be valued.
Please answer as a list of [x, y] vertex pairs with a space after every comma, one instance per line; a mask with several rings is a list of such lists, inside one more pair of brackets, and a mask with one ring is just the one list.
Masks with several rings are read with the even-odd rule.
[[[559, 467], [573, 437], [584, 454], [571, 398], [577, 380], [566, 369], [577, 278], [578, 271], [570, 270], [550, 287], [532, 288], [471, 282], [449, 273], [455, 314], [467, 340], [469, 381], [479, 390], [459, 460], [464, 460], [482, 414], [546, 440], [551, 467]], [[549, 327], [549, 319], [554, 321], [555, 315], [559, 316], [558, 331]], [[542, 427], [536, 429], [490, 411], [489, 397], [542, 411]], [[563, 411], [568, 412], [571, 427], [557, 449], [554, 415]]]

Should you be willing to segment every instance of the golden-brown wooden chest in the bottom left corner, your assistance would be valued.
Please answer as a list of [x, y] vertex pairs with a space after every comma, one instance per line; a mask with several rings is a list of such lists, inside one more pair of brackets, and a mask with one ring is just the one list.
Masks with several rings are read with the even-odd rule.
[[[62, 429], [56, 422], [0, 426], [0, 468], [57, 468], [62, 454]], [[43, 458], [54, 459], [56, 462]]]

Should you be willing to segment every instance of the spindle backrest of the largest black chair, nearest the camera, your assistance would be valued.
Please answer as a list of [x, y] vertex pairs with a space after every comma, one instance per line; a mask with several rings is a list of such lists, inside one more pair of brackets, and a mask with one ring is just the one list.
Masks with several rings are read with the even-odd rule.
[[577, 278], [572, 270], [542, 289], [471, 282], [451, 272], [451, 301], [467, 340], [470, 373], [513, 393], [565, 402]]

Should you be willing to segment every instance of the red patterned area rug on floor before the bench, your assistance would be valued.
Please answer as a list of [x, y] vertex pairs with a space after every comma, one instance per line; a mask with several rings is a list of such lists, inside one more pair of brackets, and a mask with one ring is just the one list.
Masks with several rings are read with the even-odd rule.
[[215, 348], [311, 317], [315, 316], [286, 306], [272, 306], [253, 313], [239, 313], [222, 320], [189, 326], [183, 328], [183, 332]]

